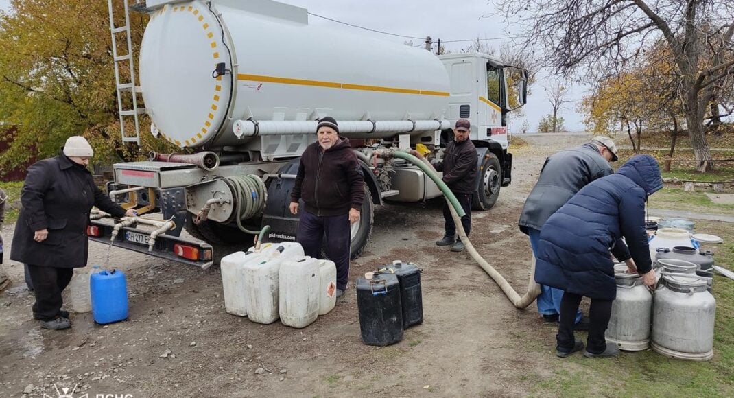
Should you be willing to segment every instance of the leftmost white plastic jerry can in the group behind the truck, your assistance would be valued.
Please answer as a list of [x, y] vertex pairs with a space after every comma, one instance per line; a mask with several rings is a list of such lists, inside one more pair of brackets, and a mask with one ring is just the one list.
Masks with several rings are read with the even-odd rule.
[[244, 283], [243, 267], [248, 262], [261, 261], [260, 253], [236, 252], [222, 258], [222, 290], [225, 295], [225, 311], [229, 314], [247, 316], [247, 287]]

